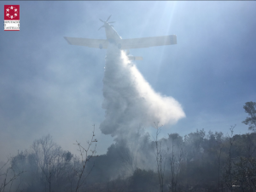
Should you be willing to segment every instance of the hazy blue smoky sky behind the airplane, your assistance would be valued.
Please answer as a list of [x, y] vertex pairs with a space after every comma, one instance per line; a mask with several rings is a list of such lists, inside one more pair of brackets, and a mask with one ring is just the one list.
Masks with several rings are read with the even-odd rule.
[[98, 128], [106, 50], [63, 38], [105, 38], [98, 19], [110, 14], [122, 38], [177, 35], [177, 45], [130, 50], [143, 56], [136, 65], [152, 88], [186, 114], [163, 127], [163, 137], [227, 133], [235, 124], [235, 133], [247, 133], [242, 106], [256, 101], [255, 2], [0, 2], [2, 20], [5, 4], [20, 5], [20, 31], [0, 30], [0, 161], [48, 133], [75, 152], [93, 124], [99, 154], [113, 143]]

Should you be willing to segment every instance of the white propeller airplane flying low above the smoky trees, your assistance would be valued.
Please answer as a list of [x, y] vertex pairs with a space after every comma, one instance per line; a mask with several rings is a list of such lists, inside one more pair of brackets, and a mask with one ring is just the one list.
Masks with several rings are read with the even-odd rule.
[[[111, 15], [108, 17], [110, 19]], [[100, 19], [101, 20], [101, 19]], [[121, 50], [127, 50], [131, 48], [149, 48], [154, 46], [162, 46], [162, 45], [172, 45], [177, 44], [176, 35], [171, 36], [160, 36], [160, 37], [143, 37], [143, 38], [132, 38], [132, 39], [122, 39], [119, 37], [119, 34], [113, 29], [113, 22], [108, 22], [108, 20], [101, 20], [104, 25], [102, 25], [98, 30], [102, 27], [105, 28], [107, 39], [88, 39], [88, 38], [75, 38], [75, 37], [64, 37], [67, 42], [71, 45], [79, 45], [85, 46], [89, 48], [108, 48], [109, 43], [113, 43], [117, 48]], [[129, 53], [129, 51], [127, 52]], [[136, 57], [132, 55], [128, 55], [129, 59], [133, 60], [142, 60], [142, 57]]]

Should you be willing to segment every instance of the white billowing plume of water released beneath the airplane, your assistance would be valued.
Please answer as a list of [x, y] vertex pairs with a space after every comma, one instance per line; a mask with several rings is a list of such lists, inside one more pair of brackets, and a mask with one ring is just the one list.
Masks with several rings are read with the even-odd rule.
[[127, 138], [138, 127], [174, 124], [185, 117], [181, 105], [155, 93], [125, 52], [113, 45], [106, 57], [103, 96], [105, 120], [100, 129], [118, 138]]

